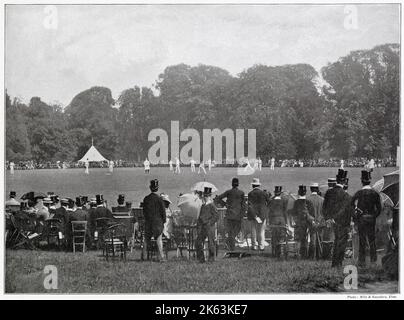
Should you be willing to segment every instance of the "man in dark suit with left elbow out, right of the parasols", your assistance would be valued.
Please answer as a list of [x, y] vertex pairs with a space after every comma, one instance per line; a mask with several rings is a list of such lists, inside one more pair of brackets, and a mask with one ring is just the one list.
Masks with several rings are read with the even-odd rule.
[[234, 251], [236, 236], [241, 230], [241, 220], [246, 211], [244, 192], [238, 188], [238, 178], [231, 181], [232, 188], [217, 197], [218, 200], [226, 199], [226, 231], [228, 234], [227, 245], [230, 251]]

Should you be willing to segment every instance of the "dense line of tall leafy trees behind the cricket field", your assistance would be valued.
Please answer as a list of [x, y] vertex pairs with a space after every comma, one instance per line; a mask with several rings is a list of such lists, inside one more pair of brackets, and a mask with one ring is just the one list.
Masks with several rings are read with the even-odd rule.
[[[91, 140], [109, 159], [140, 161], [154, 128], [256, 129], [266, 159], [394, 156], [399, 144], [398, 44], [351, 52], [321, 69], [254, 65], [236, 77], [214, 66], [167, 67], [154, 90], [114, 100], [93, 87], [64, 109], [6, 94], [6, 159], [75, 161]], [[324, 79], [325, 85], [318, 80]]]

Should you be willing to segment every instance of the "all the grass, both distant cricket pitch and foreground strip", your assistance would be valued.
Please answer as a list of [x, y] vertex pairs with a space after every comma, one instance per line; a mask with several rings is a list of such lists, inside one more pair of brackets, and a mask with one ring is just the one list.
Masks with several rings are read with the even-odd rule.
[[[360, 188], [360, 168], [348, 169], [350, 193]], [[394, 168], [376, 169], [373, 182]], [[240, 188], [249, 191], [253, 177], [260, 178], [263, 188], [272, 191], [275, 185], [296, 193], [299, 184], [326, 184], [337, 168], [263, 168], [251, 176], [239, 176]], [[92, 169], [85, 175], [82, 169], [7, 172], [6, 191], [15, 190], [19, 196], [35, 190], [53, 191], [61, 196], [103, 194], [109, 205], [115, 205], [118, 194], [138, 204], [149, 193], [149, 180], [160, 180], [160, 191], [168, 193], [175, 207], [176, 196], [187, 192], [203, 179], [216, 185], [219, 192], [230, 187], [237, 175], [235, 168], [214, 168], [205, 175], [191, 174], [183, 168], [174, 175], [167, 168], [152, 168], [146, 175], [142, 168]], [[349, 263], [349, 261], [346, 261]], [[44, 268], [58, 269], [58, 289], [43, 286]], [[73, 254], [51, 251], [8, 250], [6, 253], [6, 283], [8, 293], [324, 293], [345, 292], [342, 269], [331, 269], [328, 261], [278, 261], [253, 256], [243, 259], [220, 258], [213, 264], [172, 257], [167, 263], [142, 262], [139, 251], [129, 254], [127, 262], [106, 262], [100, 252]], [[397, 283], [383, 281], [379, 269], [362, 270], [359, 291], [372, 293], [397, 292]], [[354, 292], [350, 292], [354, 293]]]

